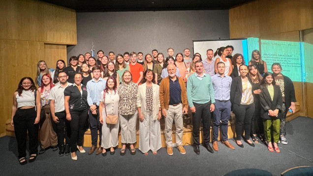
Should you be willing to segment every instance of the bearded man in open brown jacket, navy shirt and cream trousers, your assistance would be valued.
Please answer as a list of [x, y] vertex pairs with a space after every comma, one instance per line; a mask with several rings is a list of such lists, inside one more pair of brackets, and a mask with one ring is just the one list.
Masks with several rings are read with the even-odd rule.
[[185, 154], [182, 145], [183, 137], [183, 113], [188, 111], [188, 101], [185, 82], [182, 78], [175, 75], [176, 67], [174, 64], [167, 66], [168, 76], [160, 83], [160, 105], [162, 115], [165, 117], [165, 140], [167, 154], [173, 154], [172, 148], [172, 125], [173, 120], [176, 126], [176, 144], [178, 150]]

